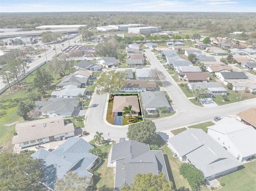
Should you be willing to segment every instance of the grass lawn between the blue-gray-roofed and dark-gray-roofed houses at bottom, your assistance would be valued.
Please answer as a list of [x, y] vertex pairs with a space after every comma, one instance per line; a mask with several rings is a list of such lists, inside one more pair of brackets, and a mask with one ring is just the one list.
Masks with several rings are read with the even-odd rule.
[[97, 146], [95, 140], [90, 141], [89, 143], [92, 146], [99, 148], [102, 153], [106, 155], [101, 158], [101, 164], [94, 169], [94, 191], [112, 191], [114, 189], [114, 168], [107, 167], [108, 154], [110, 152], [112, 144], [109, 144], [107, 140], [103, 140], [102, 146]]

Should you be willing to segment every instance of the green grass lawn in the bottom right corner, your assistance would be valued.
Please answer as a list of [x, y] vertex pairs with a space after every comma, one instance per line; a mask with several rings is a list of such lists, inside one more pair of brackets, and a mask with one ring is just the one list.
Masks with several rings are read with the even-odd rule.
[[218, 178], [225, 183], [221, 191], [252, 191], [256, 189], [256, 160], [238, 167], [236, 172]]

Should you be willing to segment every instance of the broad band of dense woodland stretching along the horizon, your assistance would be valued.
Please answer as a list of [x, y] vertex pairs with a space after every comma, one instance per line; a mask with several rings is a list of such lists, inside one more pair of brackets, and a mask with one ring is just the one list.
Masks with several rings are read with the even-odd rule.
[[192, 28], [201, 32], [254, 32], [256, 13], [224, 12], [42, 12], [1, 13], [1, 28], [34, 30], [42, 25], [87, 24], [88, 27], [137, 23], [162, 30]]

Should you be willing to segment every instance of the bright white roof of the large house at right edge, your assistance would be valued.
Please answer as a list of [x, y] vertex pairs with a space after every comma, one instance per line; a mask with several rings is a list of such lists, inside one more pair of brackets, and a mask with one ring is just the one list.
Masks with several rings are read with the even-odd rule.
[[243, 157], [256, 154], [256, 130], [231, 117], [224, 117], [208, 129], [225, 134], [238, 148]]

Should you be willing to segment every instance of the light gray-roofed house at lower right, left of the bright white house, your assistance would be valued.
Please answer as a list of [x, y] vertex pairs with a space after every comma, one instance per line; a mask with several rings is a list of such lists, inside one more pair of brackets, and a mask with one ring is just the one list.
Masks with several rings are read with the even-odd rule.
[[167, 143], [174, 156], [181, 162], [192, 163], [204, 173], [206, 179], [232, 173], [242, 165], [202, 129], [187, 129], [168, 139]]

